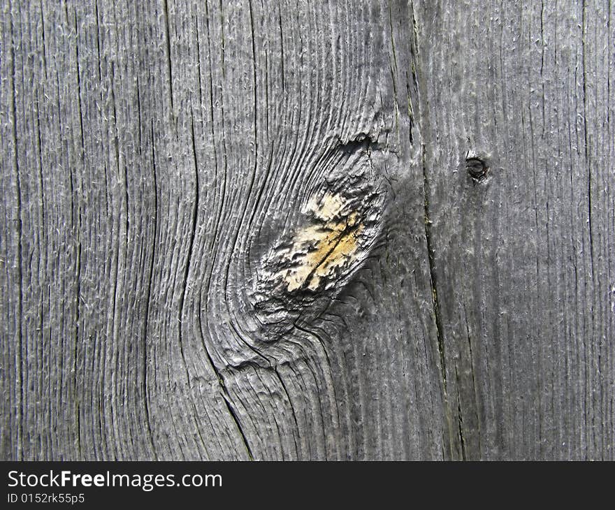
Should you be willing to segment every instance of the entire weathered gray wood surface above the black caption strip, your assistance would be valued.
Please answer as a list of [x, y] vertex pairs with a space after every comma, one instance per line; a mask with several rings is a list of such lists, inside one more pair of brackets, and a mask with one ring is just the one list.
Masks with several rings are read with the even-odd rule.
[[615, 458], [615, 6], [3, 0], [2, 459]]

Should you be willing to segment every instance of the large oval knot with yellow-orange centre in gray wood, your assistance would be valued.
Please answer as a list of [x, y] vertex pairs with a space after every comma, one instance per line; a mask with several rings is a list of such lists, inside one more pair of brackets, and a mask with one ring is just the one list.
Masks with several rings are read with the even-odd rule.
[[386, 187], [371, 152], [363, 142], [331, 150], [322, 163], [326, 176], [259, 261], [249, 295], [259, 340], [279, 340], [297, 321], [319, 316], [377, 245]]

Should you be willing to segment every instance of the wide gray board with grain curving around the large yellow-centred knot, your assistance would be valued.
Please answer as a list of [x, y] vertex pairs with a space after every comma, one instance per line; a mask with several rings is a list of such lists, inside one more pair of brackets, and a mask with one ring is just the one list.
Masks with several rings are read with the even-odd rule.
[[[340, 279], [342, 294], [297, 298], [307, 317], [282, 340], [256, 328], [244, 292], [327, 178], [343, 191], [346, 171], [374, 166], [372, 237], [385, 221], [379, 175], [420, 189], [419, 166], [404, 168], [407, 123], [395, 147], [387, 134], [393, 38], [410, 47], [396, 13], [247, 2], [4, 13], [15, 108], [3, 129], [16, 135], [3, 137], [3, 252], [20, 260], [4, 280], [3, 456], [439, 456], [440, 418], [423, 411], [440, 390], [420, 222], [407, 238], [386, 219], [384, 244], [400, 253]], [[422, 194], [402, 196], [391, 212], [420, 218]], [[377, 239], [363, 238], [365, 258]], [[392, 278], [391, 264], [403, 268]]]

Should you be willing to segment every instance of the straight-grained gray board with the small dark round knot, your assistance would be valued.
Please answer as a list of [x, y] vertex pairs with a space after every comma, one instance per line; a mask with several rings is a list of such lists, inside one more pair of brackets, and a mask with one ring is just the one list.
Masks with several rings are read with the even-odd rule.
[[612, 460], [613, 6], [416, 13], [451, 456]]

